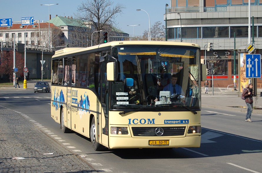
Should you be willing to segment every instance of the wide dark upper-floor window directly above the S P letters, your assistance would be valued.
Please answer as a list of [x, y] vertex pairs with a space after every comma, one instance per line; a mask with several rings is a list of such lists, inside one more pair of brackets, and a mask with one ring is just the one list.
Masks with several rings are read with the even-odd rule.
[[203, 38], [229, 38], [227, 26], [203, 27]]

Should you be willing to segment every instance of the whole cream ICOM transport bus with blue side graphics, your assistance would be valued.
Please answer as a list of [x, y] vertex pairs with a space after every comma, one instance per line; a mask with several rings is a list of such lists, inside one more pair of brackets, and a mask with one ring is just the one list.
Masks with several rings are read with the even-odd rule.
[[[202, 75], [203, 73], [203, 75]], [[51, 116], [94, 150], [200, 147], [200, 46], [114, 41], [52, 57]]]

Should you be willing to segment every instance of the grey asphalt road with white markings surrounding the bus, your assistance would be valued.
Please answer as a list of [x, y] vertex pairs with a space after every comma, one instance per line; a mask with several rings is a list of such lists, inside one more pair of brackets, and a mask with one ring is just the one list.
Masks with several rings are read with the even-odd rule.
[[50, 115], [50, 95], [29, 89], [2, 89], [0, 103], [31, 117], [43, 127], [42, 133], [97, 172], [262, 172], [262, 117], [259, 115], [252, 114], [253, 122], [249, 123], [244, 121], [243, 112], [203, 108], [200, 148], [97, 152], [88, 138], [74, 132], [62, 133]]

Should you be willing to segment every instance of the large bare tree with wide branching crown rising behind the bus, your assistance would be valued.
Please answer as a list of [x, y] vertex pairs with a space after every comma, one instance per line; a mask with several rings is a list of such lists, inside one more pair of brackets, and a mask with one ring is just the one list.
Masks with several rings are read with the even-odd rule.
[[[121, 15], [125, 6], [119, 3], [116, 6], [112, 5], [113, 2], [110, 0], [87, 0], [78, 6], [78, 13], [75, 16], [78, 20], [84, 21], [84, 23], [88, 23], [91, 26], [90, 33], [88, 34], [90, 37], [94, 31], [102, 30], [109, 32], [117, 28], [117, 14]], [[94, 45], [100, 41], [100, 32], [96, 35], [97, 39], [93, 39]]]

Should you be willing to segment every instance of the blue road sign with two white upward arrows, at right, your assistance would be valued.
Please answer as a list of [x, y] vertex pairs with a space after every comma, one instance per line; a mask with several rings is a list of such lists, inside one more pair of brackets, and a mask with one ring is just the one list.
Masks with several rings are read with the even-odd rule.
[[260, 54], [246, 54], [246, 78], [261, 77]]

